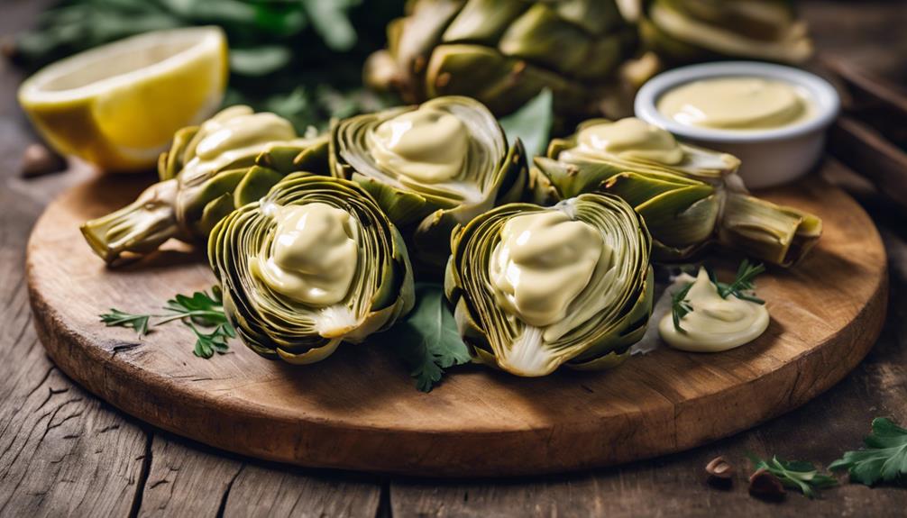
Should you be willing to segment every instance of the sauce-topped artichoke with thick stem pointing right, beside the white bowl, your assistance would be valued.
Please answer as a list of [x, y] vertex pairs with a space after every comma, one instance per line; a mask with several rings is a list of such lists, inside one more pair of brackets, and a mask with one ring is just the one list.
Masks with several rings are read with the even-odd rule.
[[677, 261], [713, 241], [772, 264], [799, 261], [822, 234], [822, 220], [750, 196], [725, 153], [679, 143], [638, 119], [588, 120], [535, 158], [538, 203], [606, 192], [646, 220], [653, 259]]

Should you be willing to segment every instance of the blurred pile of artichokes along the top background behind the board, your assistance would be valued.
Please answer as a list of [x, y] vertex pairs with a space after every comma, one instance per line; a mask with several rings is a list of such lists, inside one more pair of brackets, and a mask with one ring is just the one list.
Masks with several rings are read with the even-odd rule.
[[364, 76], [406, 102], [467, 95], [504, 115], [549, 89], [568, 119], [614, 117], [665, 66], [811, 53], [789, 0], [415, 0]]

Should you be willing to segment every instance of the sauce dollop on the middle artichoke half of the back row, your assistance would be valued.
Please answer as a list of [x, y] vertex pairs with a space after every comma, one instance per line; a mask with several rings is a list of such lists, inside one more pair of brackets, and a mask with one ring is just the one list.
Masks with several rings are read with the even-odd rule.
[[463, 121], [432, 108], [385, 120], [368, 139], [379, 168], [424, 184], [457, 177], [469, 151], [469, 132]]

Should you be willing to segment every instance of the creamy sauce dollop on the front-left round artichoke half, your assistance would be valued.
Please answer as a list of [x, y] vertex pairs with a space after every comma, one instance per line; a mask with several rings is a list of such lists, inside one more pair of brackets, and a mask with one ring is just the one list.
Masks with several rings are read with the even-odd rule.
[[275, 292], [324, 307], [349, 292], [358, 263], [356, 220], [324, 203], [275, 206], [269, 247], [249, 257], [249, 269]]

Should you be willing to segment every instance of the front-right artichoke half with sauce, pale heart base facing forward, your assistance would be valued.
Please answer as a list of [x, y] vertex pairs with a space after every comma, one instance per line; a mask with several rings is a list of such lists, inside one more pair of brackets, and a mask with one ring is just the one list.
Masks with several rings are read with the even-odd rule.
[[454, 231], [444, 291], [478, 362], [527, 377], [607, 369], [646, 330], [650, 245], [619, 197], [500, 206]]

